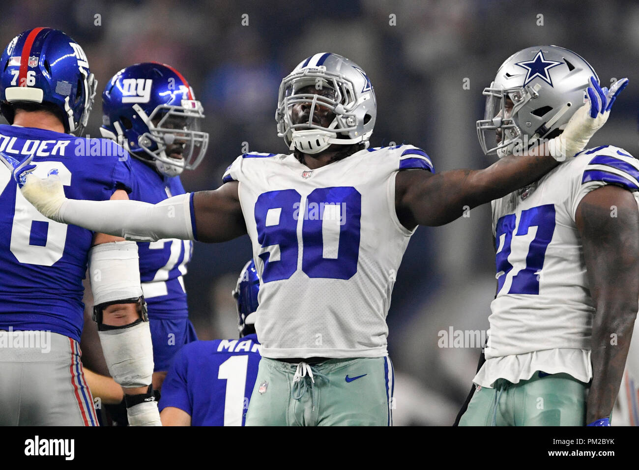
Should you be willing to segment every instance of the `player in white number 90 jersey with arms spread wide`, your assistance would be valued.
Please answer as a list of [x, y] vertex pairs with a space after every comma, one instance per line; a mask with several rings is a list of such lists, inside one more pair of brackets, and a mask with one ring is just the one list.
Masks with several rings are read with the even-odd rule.
[[534, 182], [582, 150], [608, 114], [581, 109], [536, 156], [435, 175], [415, 146], [367, 148], [376, 119], [371, 82], [349, 59], [325, 52], [280, 86], [275, 118], [291, 153], [240, 155], [215, 191], [98, 205], [66, 199], [56, 176], [24, 175], [28, 161], [14, 176], [48, 217], [132, 240], [224, 242], [248, 233], [263, 359], [246, 424], [389, 425], [385, 319], [417, 225], [448, 223], [465, 205]]

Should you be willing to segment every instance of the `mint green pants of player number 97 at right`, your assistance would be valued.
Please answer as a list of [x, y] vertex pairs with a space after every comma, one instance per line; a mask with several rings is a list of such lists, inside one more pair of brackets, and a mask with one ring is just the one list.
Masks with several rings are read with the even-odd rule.
[[459, 426], [585, 426], [588, 385], [567, 373], [541, 374], [477, 387]]

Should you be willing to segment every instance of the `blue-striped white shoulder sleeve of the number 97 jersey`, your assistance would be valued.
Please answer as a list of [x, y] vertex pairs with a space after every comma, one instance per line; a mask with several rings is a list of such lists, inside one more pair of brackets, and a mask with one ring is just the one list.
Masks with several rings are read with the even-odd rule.
[[[613, 184], [631, 192], [639, 191], [639, 161], [625, 150], [613, 146], [601, 146], [585, 152], [587, 164], [574, 181], [571, 217], [586, 194], [607, 184]], [[635, 195], [636, 197], [636, 195]]]

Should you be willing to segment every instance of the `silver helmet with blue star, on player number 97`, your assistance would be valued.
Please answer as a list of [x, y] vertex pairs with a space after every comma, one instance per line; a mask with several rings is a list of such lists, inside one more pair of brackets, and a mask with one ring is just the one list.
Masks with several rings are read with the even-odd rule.
[[[484, 88], [486, 112], [477, 121], [484, 153], [501, 158], [534, 141], [555, 137], [588, 99], [596, 72], [579, 54], [556, 45], [528, 47], [512, 54]], [[492, 142], [491, 142], [492, 140]]]

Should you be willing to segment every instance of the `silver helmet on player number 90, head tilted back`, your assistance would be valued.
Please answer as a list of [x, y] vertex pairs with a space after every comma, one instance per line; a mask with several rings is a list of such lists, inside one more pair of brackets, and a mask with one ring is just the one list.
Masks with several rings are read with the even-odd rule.
[[[325, 93], [300, 92], [314, 86]], [[311, 105], [309, 119], [293, 123], [293, 106]], [[323, 127], [313, 122], [316, 106], [327, 107], [335, 114], [334, 120]], [[349, 59], [320, 52], [300, 62], [284, 77], [277, 98], [277, 136], [284, 137], [290, 150], [319, 153], [331, 144], [350, 145], [366, 143], [375, 125], [377, 102], [366, 72]]]

